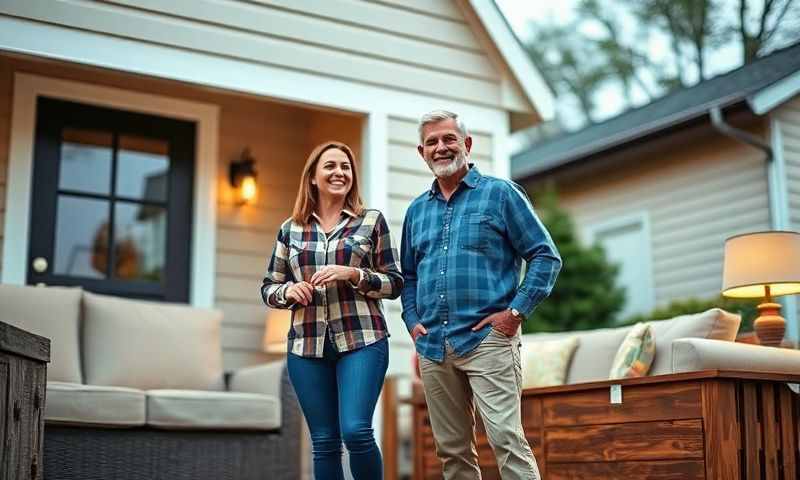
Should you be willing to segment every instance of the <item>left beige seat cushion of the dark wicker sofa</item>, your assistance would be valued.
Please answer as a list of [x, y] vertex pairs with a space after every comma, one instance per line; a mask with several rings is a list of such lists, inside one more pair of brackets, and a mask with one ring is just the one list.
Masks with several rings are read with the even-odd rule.
[[133, 388], [47, 382], [44, 418], [64, 424], [141, 426], [145, 421], [145, 396]]

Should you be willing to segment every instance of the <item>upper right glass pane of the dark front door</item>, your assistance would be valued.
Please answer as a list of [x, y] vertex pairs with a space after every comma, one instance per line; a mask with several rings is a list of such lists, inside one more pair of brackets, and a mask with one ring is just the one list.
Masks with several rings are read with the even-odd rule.
[[169, 144], [160, 139], [120, 135], [117, 195], [165, 202]]

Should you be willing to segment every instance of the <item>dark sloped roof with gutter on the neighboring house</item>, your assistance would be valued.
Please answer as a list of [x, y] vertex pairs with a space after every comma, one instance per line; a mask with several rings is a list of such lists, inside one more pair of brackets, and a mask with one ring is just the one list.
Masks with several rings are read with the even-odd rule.
[[511, 177], [523, 180], [708, 114], [746, 102], [763, 114], [800, 91], [800, 43], [728, 73], [670, 93], [601, 123], [545, 140], [511, 158]]

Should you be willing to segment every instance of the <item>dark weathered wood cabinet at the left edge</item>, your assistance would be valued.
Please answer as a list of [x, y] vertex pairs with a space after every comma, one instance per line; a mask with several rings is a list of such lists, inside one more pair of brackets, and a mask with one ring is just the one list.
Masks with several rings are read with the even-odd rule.
[[0, 480], [42, 478], [50, 340], [0, 322]]

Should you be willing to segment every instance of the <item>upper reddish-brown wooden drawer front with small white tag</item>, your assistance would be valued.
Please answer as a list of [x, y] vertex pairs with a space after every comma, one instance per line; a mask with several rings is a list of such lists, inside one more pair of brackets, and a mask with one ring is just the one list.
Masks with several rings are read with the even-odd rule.
[[606, 425], [702, 418], [699, 382], [622, 387], [622, 403], [612, 404], [609, 388], [547, 395], [542, 399], [545, 427]]

